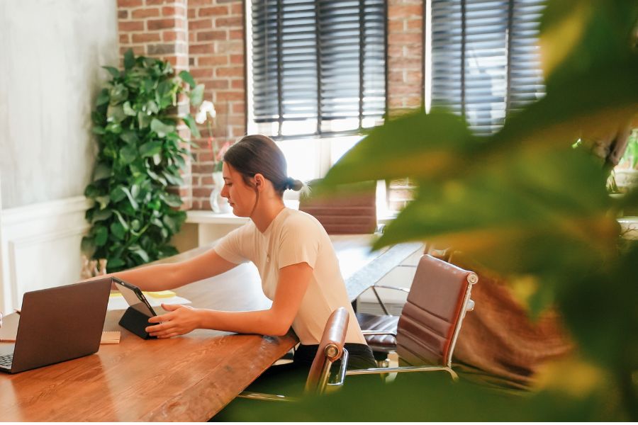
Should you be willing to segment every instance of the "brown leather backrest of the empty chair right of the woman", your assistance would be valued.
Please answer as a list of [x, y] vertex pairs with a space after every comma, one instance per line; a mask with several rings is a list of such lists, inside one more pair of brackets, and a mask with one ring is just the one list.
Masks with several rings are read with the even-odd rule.
[[398, 321], [397, 353], [410, 365], [452, 364], [476, 273], [430, 255], [421, 257]]

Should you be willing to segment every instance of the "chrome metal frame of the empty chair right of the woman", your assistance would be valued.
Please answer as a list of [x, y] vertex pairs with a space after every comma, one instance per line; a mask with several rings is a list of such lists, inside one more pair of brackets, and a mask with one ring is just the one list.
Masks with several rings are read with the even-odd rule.
[[[416, 266], [412, 266], [412, 267], [416, 267]], [[447, 355], [447, 361], [444, 364], [421, 365], [421, 366], [398, 366], [394, 368], [355, 369], [355, 370], [347, 370], [346, 375], [369, 375], [373, 373], [378, 374], [378, 373], [432, 372], [432, 371], [444, 370], [452, 376], [453, 380], [458, 380], [459, 375], [457, 375], [457, 373], [454, 372], [454, 370], [452, 370], [452, 354], [454, 353], [454, 347], [456, 346], [457, 339], [459, 338], [459, 332], [461, 331], [461, 325], [463, 324], [463, 319], [465, 318], [465, 314], [466, 312], [471, 312], [472, 310], [474, 310], [474, 301], [471, 300], [470, 297], [471, 297], [472, 286], [478, 283], [478, 275], [476, 275], [476, 273], [474, 272], [469, 272], [466, 279], [467, 279], [468, 285], [465, 290], [465, 295], [462, 302], [459, 319], [454, 324], [454, 332], [452, 334], [452, 339], [451, 339], [451, 343], [449, 347], [449, 353]], [[406, 288], [399, 288], [399, 287], [388, 286], [388, 285], [374, 285], [371, 288], [373, 288], [374, 290], [375, 286], [376, 288], [402, 290], [404, 292], [409, 293], [409, 290], [407, 290]], [[377, 297], [377, 300], [379, 300], [379, 303], [381, 304], [381, 308], [387, 314], [386, 307], [384, 306], [384, 303], [381, 301], [381, 298], [379, 297], [379, 295], [376, 293], [376, 290], [374, 290], [374, 293]], [[362, 332], [364, 336], [365, 335], [392, 335], [396, 338], [396, 332], [374, 331], [369, 329], [366, 329]]]

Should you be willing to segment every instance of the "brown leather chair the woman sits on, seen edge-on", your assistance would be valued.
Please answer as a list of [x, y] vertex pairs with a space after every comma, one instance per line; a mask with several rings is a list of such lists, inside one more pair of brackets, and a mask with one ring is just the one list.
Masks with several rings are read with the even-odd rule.
[[[341, 387], [345, 379], [345, 370], [348, 363], [348, 352], [344, 348], [346, 331], [348, 329], [349, 314], [345, 307], [339, 307], [330, 314], [325, 324], [323, 336], [319, 343], [317, 354], [310, 365], [310, 372], [306, 380], [304, 392], [306, 394], [323, 394], [328, 389]], [[341, 368], [335, 382], [330, 380], [330, 367], [335, 361], [342, 359]], [[247, 399], [260, 399], [277, 402], [297, 401], [294, 397], [284, 395], [271, 395], [262, 392], [243, 391], [237, 397]]]

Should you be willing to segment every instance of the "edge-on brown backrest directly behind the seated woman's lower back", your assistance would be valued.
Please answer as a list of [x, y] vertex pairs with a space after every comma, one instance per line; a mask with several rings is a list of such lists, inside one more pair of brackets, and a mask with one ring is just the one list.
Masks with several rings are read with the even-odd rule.
[[315, 360], [310, 366], [305, 392], [313, 394], [324, 392], [330, 378], [330, 366], [343, 354], [348, 320], [349, 314], [345, 307], [339, 307], [330, 314], [323, 329]]

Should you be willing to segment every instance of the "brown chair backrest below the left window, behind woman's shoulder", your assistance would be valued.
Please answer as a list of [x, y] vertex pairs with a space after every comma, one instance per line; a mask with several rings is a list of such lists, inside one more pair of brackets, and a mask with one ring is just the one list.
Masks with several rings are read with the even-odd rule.
[[[374, 183], [374, 184], [373, 184]], [[312, 182], [309, 183], [312, 187]], [[301, 196], [299, 210], [315, 217], [328, 234], [364, 234], [376, 230], [376, 183], [330, 198]]]

